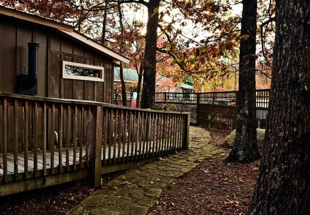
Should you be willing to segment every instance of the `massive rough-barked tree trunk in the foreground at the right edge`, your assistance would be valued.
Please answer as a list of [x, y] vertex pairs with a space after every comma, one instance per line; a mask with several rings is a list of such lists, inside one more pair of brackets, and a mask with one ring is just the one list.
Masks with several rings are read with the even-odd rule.
[[263, 157], [249, 214], [310, 214], [310, 1], [276, 0]]

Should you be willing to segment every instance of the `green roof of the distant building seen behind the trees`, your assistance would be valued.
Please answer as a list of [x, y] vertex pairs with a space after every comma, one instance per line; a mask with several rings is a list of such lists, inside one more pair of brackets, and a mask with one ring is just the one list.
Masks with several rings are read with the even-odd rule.
[[[136, 81], [138, 81], [138, 74], [137, 74], [136, 70], [123, 68], [123, 73], [124, 73], [125, 82], [136, 82]], [[162, 81], [166, 81], [168, 78], [160, 75], [160, 79]], [[117, 81], [117, 82], [121, 81], [121, 77], [120, 77], [120, 73], [119, 73], [119, 67], [114, 67], [114, 81]], [[156, 82], [156, 85], [159, 85], [158, 81]], [[180, 83], [179, 87], [182, 87], [184, 89], [193, 89], [193, 86], [187, 85], [184, 83]]]

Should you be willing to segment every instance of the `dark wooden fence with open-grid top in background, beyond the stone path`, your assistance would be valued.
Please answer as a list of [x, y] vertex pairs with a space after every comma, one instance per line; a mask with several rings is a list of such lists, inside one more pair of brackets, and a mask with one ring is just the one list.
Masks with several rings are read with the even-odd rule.
[[[256, 90], [257, 126], [266, 119], [269, 89]], [[189, 112], [193, 124], [233, 130], [237, 123], [238, 91], [208, 93], [156, 93], [155, 109]]]

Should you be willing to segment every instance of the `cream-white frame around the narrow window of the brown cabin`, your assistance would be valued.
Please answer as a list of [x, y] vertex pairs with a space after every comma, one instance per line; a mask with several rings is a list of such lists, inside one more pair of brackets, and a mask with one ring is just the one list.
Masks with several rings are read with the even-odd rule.
[[[65, 66], [75, 66], [75, 67], [79, 67], [79, 68], [100, 70], [101, 71], [101, 78], [65, 74], [65, 69], [66, 69]], [[90, 80], [90, 81], [101, 81], [101, 82], [103, 82], [104, 81], [104, 67], [93, 66], [93, 65], [83, 64], [83, 63], [74, 63], [74, 62], [69, 62], [69, 61], [63, 61], [62, 62], [62, 77], [68, 78], [68, 79], [75, 79], [75, 80]]]

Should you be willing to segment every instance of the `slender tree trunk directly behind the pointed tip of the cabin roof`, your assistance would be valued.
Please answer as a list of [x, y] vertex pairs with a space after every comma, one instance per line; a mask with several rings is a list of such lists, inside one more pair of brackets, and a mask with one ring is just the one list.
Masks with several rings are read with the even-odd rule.
[[[122, 16], [122, 10], [121, 10], [121, 5], [118, 5], [117, 7], [118, 13], [119, 13], [119, 26], [121, 29], [121, 44], [120, 44], [120, 53], [123, 53], [123, 46], [124, 46], [124, 40], [125, 40], [125, 32], [124, 32], [124, 27], [123, 27], [123, 16]], [[125, 80], [124, 80], [124, 72], [123, 72], [123, 63], [120, 63], [119, 66], [119, 76], [121, 78], [121, 85], [122, 85], [122, 105], [127, 107], [127, 95], [126, 95], [126, 85], [125, 85]]]

